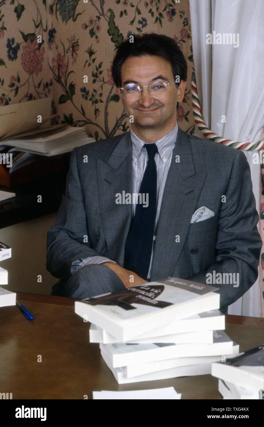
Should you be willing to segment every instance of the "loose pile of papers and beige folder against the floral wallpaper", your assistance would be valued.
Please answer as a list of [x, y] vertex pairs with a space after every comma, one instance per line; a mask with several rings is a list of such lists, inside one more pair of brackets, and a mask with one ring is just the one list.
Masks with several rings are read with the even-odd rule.
[[[36, 101], [38, 101], [37, 104]], [[44, 107], [42, 102], [44, 102]], [[30, 117], [30, 120], [26, 121], [21, 121], [21, 117], [17, 117], [17, 114], [15, 114], [17, 111], [14, 111], [13, 115], [12, 111], [9, 111], [11, 108], [18, 108], [16, 104], [0, 107], [0, 124], [3, 118], [6, 118], [8, 122], [8, 126], [4, 126], [0, 131], [0, 149], [6, 155], [14, 154], [13, 165], [9, 173], [12, 173], [18, 164], [25, 163], [25, 161], [26, 164], [35, 161], [34, 154], [58, 155], [72, 151], [76, 146], [94, 141], [93, 138], [87, 137], [84, 126], [70, 126], [67, 123], [51, 125], [52, 119], [55, 119], [57, 114], [52, 116], [46, 114], [46, 111], [48, 111], [46, 102], [46, 99], [38, 99], [21, 103], [23, 105], [19, 105], [20, 113], [21, 108], [23, 108], [24, 114], [22, 116]], [[9, 107], [9, 109], [6, 110], [6, 107]], [[27, 114], [28, 111], [30, 114]], [[41, 123], [39, 123], [38, 116], [41, 116]], [[16, 117], [19, 119], [18, 122], [16, 122]], [[12, 121], [10, 122], [10, 120]], [[4, 148], [5, 146], [7, 149]], [[10, 146], [15, 147], [15, 149], [8, 149]], [[31, 154], [21, 155], [18, 150]]]

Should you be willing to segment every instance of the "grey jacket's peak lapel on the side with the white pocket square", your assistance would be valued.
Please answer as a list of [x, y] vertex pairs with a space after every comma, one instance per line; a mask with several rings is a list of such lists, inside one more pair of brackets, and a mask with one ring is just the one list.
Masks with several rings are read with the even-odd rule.
[[195, 172], [189, 136], [179, 128], [162, 198], [151, 280], [173, 274], [205, 178], [206, 171]]

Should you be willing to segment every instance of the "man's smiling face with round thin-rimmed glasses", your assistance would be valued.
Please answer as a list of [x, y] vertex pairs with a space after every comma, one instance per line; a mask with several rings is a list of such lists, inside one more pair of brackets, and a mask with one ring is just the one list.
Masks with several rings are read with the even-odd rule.
[[[125, 60], [121, 69], [121, 80], [122, 87], [131, 82], [139, 86], [148, 86], [153, 81], [174, 82], [175, 76], [172, 73], [171, 64], [165, 59], [159, 56], [142, 55], [129, 56]], [[185, 82], [181, 83], [179, 89], [176, 84], [167, 86], [165, 95], [160, 100], [154, 99], [147, 88], [142, 89], [141, 96], [136, 102], [129, 102], [121, 95], [126, 114], [128, 117], [131, 115], [134, 117], [134, 122], [131, 123], [132, 129], [135, 126], [161, 129], [168, 124], [175, 125], [177, 101], [184, 96], [183, 83], [185, 88]], [[180, 92], [179, 96], [178, 92]]]

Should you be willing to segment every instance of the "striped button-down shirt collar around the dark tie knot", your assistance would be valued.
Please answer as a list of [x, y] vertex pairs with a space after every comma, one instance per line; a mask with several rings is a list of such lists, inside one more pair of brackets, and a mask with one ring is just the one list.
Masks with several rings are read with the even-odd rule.
[[[165, 163], [168, 160], [172, 150], [174, 149], [175, 141], [177, 139], [177, 133], [178, 133], [178, 124], [176, 123], [176, 125], [174, 126], [171, 132], [169, 132], [167, 135], [163, 136], [162, 138], [157, 139], [157, 141], [154, 141], [154, 143], [157, 145], [157, 149], [163, 163]], [[137, 163], [139, 155], [142, 151], [143, 145], [145, 144], [145, 141], [140, 139], [133, 132], [132, 129], [130, 129], [130, 136], [131, 136], [131, 142], [132, 142], [133, 161]]]

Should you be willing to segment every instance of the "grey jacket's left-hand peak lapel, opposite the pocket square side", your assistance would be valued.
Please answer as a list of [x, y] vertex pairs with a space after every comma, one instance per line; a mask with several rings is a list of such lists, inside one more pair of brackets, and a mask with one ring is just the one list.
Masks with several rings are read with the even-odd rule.
[[108, 257], [122, 265], [125, 240], [132, 218], [132, 205], [116, 204], [116, 194], [132, 193], [132, 148], [126, 132], [107, 163], [98, 159], [97, 179], [102, 225]]

